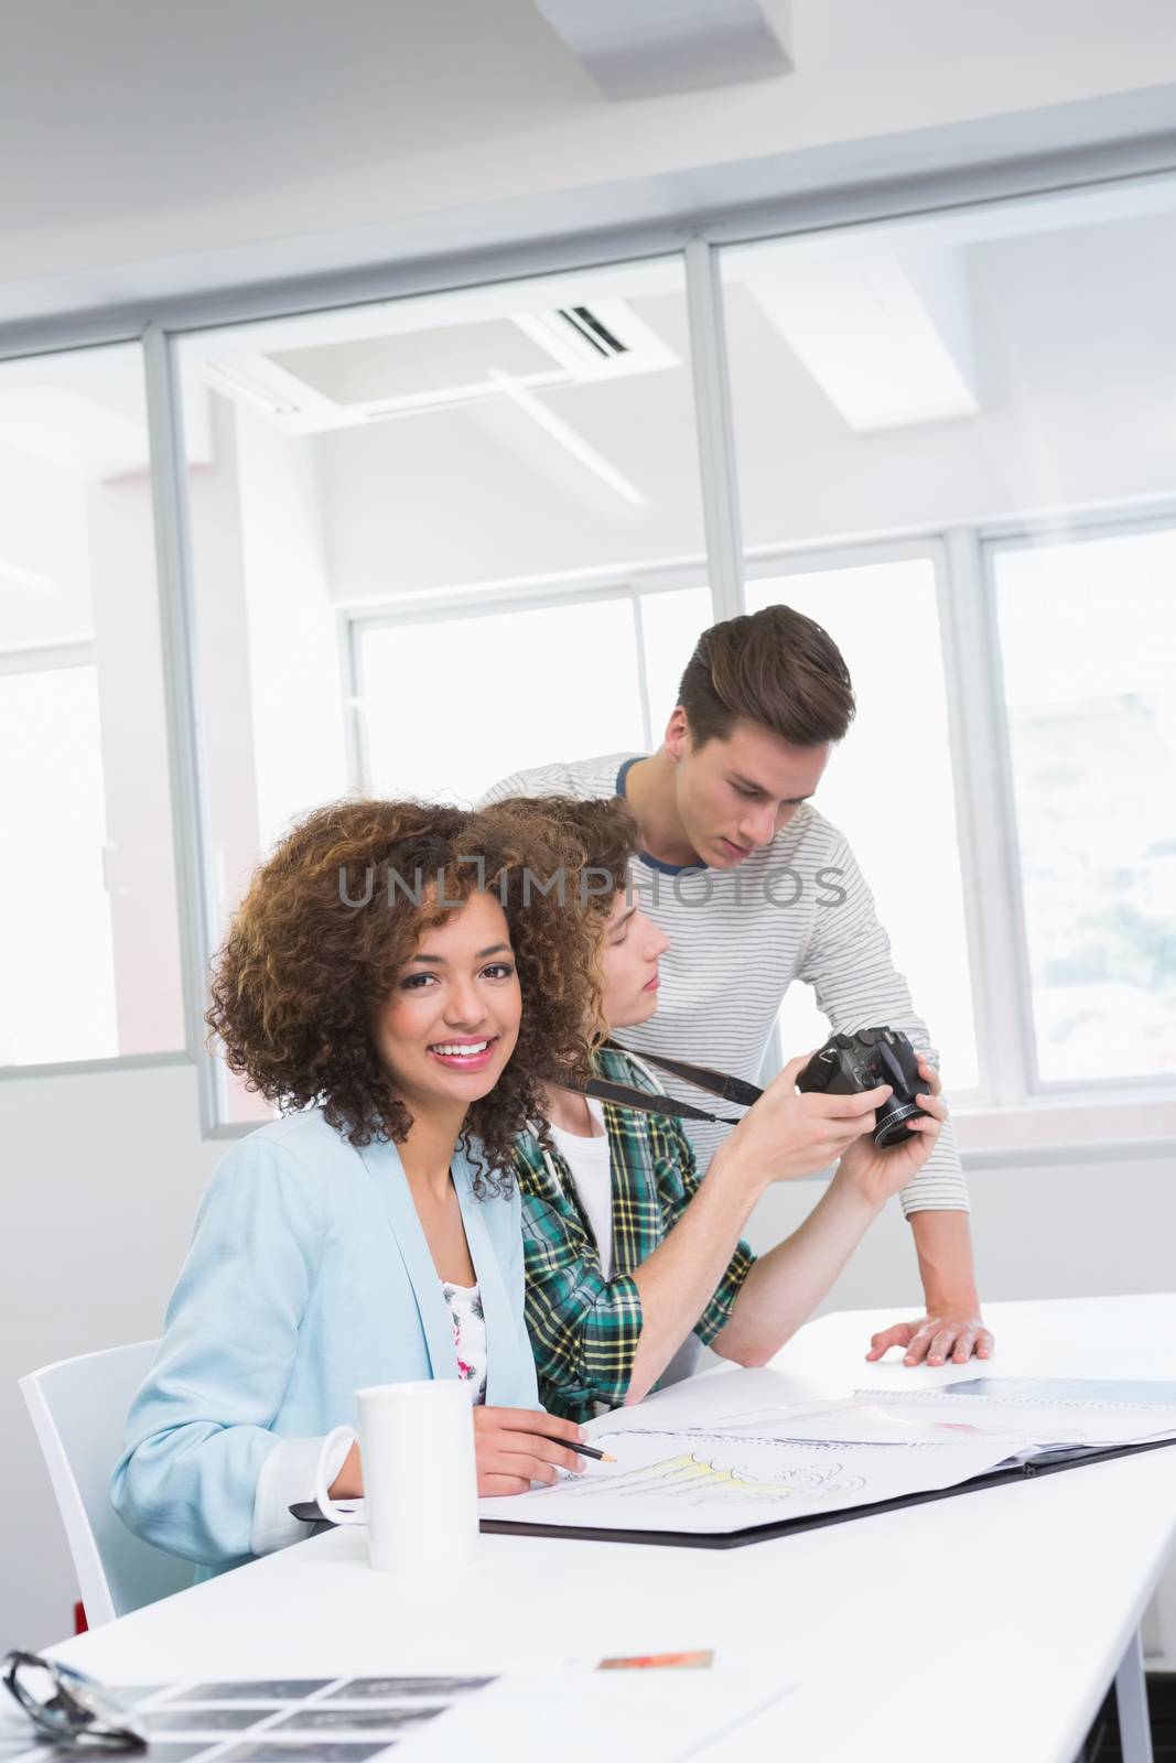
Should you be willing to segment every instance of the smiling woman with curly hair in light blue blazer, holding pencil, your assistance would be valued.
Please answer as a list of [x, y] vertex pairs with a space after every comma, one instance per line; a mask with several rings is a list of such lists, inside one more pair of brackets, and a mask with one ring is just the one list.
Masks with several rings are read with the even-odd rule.
[[[510, 1171], [543, 1079], [585, 1070], [594, 943], [534, 813], [340, 802], [257, 869], [208, 1023], [280, 1118], [201, 1204], [113, 1477], [132, 1530], [213, 1571], [300, 1539], [324, 1435], [404, 1379], [469, 1380], [481, 1493], [578, 1467], [536, 1403]], [[356, 1446], [323, 1467], [363, 1491]]]

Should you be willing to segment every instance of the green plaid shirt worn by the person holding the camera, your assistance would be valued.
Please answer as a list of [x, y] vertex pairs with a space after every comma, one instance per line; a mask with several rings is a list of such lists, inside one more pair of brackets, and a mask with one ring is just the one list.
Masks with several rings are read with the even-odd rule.
[[[624, 1053], [594, 1056], [599, 1077], [658, 1091]], [[596, 1238], [559, 1151], [543, 1157], [534, 1134], [515, 1141], [527, 1269], [527, 1329], [548, 1414], [584, 1421], [592, 1403], [624, 1402], [642, 1333], [633, 1268], [665, 1243], [698, 1190], [689, 1139], [668, 1114], [605, 1102], [612, 1160], [612, 1268], [605, 1278]], [[755, 1257], [739, 1243], [707, 1308], [695, 1322], [703, 1345], [730, 1320]]]

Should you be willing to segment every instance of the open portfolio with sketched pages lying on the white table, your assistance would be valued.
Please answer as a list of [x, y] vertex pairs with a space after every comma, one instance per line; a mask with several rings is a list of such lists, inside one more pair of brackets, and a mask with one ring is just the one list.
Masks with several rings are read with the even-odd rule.
[[[781, 1402], [744, 1372], [589, 1426], [617, 1458], [481, 1502], [481, 1529], [732, 1548], [1176, 1442], [1176, 1384], [961, 1379]], [[776, 1398], [776, 1400], [774, 1400]]]

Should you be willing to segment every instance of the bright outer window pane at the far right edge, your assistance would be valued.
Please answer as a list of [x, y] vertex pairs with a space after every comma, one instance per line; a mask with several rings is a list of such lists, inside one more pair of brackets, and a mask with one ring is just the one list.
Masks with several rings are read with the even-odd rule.
[[991, 552], [1044, 1082], [1176, 1072], [1176, 527]]

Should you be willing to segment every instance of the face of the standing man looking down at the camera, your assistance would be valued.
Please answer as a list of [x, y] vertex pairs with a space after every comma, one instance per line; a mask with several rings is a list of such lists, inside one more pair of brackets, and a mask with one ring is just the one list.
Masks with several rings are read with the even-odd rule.
[[733, 869], [770, 844], [820, 783], [829, 742], [793, 748], [762, 723], [739, 719], [730, 735], [695, 748], [679, 707], [666, 728], [675, 807], [691, 848], [712, 869]]

